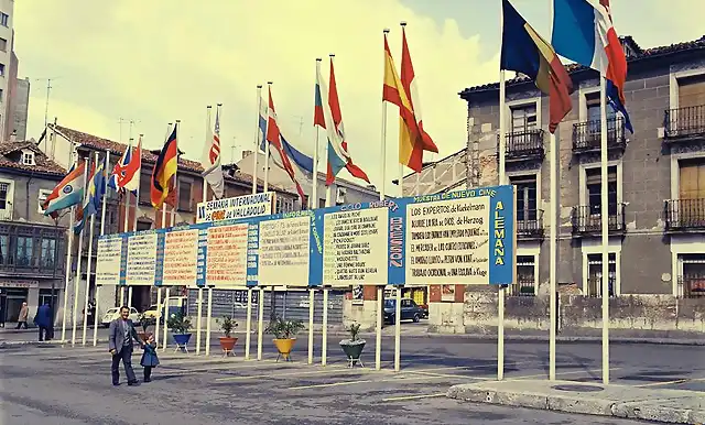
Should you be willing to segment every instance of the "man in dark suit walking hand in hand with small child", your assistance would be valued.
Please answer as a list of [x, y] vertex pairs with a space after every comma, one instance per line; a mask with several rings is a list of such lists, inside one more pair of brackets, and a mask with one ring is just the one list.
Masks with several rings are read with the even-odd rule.
[[139, 382], [134, 377], [132, 370], [132, 346], [134, 341], [142, 341], [134, 330], [134, 325], [130, 320], [130, 309], [126, 306], [120, 307], [120, 317], [110, 322], [110, 328], [108, 330], [108, 349], [112, 355], [112, 364], [110, 371], [112, 372], [112, 384], [120, 384], [120, 360], [124, 366], [124, 374], [128, 377], [128, 385], [138, 385]]

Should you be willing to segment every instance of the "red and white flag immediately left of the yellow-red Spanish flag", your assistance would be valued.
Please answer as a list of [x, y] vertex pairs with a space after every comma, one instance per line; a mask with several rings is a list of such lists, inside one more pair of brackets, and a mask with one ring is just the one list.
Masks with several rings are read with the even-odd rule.
[[[323, 78], [321, 78], [321, 72], [316, 75], [316, 90], [317, 97], [316, 101], [321, 100], [321, 84], [323, 84]], [[370, 179], [367, 177], [367, 174], [359, 166], [352, 163], [352, 157], [348, 152], [348, 142], [345, 137], [345, 128], [343, 126], [343, 113], [340, 112], [340, 102], [338, 100], [338, 89], [335, 81], [335, 68], [333, 67], [333, 57], [330, 58], [330, 78], [329, 78], [330, 89], [328, 90], [328, 108], [321, 108], [322, 111], [329, 112], [328, 120], [328, 165], [326, 173], [326, 186], [332, 185], [335, 182], [335, 177], [338, 175], [340, 170], [346, 168], [352, 177], [364, 179], [368, 184]], [[318, 107], [315, 107], [315, 110], [318, 110]], [[325, 113], [324, 113], [325, 115]], [[314, 121], [315, 121], [314, 115]], [[323, 127], [324, 129], [326, 127]]]

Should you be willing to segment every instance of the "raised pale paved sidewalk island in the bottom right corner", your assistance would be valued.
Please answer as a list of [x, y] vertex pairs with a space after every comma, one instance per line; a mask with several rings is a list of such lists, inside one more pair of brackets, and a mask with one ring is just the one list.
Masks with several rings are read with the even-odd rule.
[[573, 414], [669, 424], [705, 423], [705, 396], [695, 391], [649, 390], [571, 381], [492, 381], [451, 386], [451, 399]]

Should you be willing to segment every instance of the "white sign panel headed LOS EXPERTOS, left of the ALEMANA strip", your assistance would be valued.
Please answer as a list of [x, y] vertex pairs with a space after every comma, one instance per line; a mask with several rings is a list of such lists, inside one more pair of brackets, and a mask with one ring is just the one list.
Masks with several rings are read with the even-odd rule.
[[449, 199], [406, 208], [406, 284], [487, 284], [490, 198]]

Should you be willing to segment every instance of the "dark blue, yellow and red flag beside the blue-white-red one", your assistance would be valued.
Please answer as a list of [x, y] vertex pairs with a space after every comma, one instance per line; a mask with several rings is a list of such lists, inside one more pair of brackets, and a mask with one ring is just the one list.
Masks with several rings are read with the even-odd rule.
[[573, 81], [551, 45], [527, 23], [509, 0], [502, 0], [502, 21], [500, 69], [527, 75], [539, 90], [549, 96], [549, 131], [553, 133], [573, 108]]

